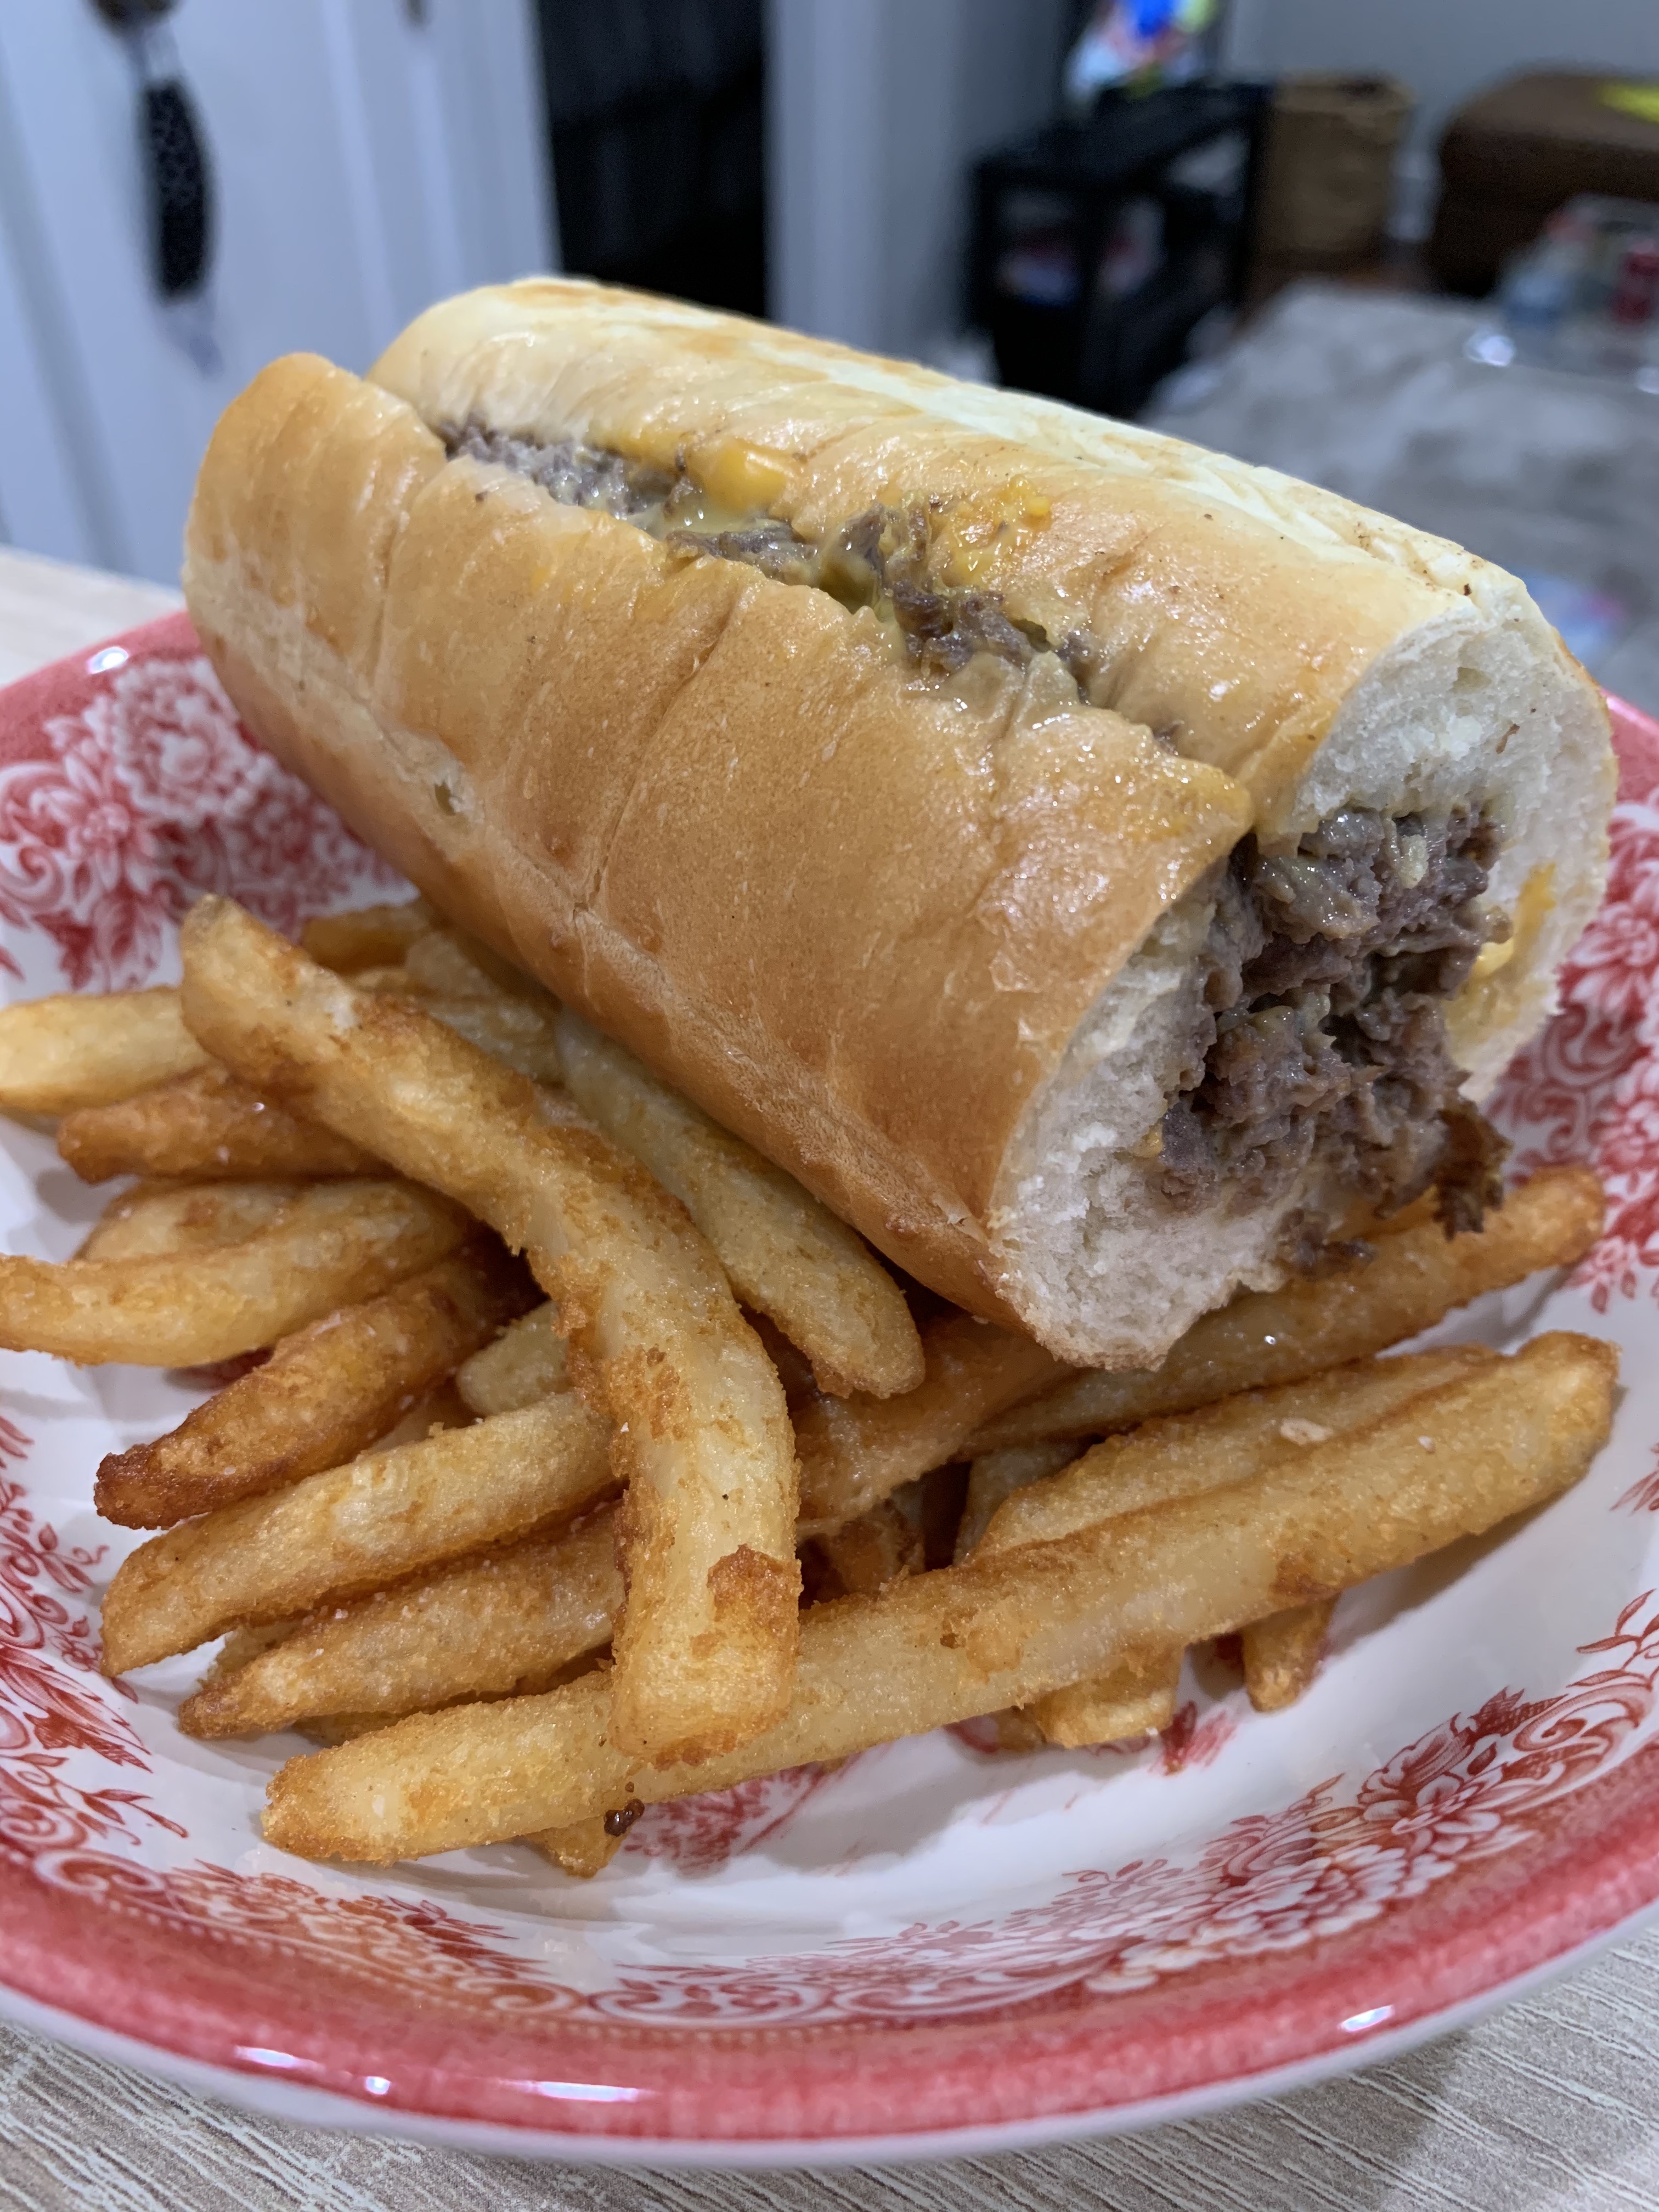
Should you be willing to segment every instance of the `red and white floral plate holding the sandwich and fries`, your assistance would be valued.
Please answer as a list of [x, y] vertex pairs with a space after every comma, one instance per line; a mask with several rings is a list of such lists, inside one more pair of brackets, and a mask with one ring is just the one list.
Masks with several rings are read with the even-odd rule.
[[[1261, 2095], [1436, 2033], [1659, 1898], [1659, 726], [1615, 703], [1608, 905], [1498, 1110], [1595, 1159], [1571, 1283], [1444, 1336], [1626, 1349], [1544, 1513], [1343, 1599], [1301, 1705], [1206, 1659], [1139, 1752], [967, 1728], [655, 1807], [595, 1882], [529, 1849], [363, 1876], [259, 1836], [276, 1739], [201, 1745], [199, 1661], [93, 1670], [133, 1542], [100, 1455], [186, 1376], [0, 1356], [0, 2013], [226, 2097], [566, 2157], [823, 2161], [1029, 2143]], [[0, 697], [11, 995], [166, 980], [223, 889], [279, 927], [385, 869], [239, 730], [184, 617]], [[4, 1130], [11, 1250], [100, 1199]]]

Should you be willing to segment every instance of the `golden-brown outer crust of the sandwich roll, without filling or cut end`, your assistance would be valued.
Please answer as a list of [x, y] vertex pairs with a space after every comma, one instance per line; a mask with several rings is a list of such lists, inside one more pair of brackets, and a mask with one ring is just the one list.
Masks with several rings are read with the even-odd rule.
[[[960, 580], [1104, 641], [1113, 703], [918, 681], [825, 593], [447, 460], [434, 425], [469, 418], [672, 460], [805, 535], [931, 500]], [[1004, 1323], [993, 1192], [1082, 1018], [1245, 830], [1296, 832], [1378, 655], [1506, 593], [1172, 440], [562, 281], [431, 310], [372, 383], [263, 372], [186, 557], [250, 728], [361, 834]]]

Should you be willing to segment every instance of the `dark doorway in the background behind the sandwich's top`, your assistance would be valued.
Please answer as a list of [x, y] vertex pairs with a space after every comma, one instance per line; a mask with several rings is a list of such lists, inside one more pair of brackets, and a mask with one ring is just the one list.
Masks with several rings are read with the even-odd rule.
[[573, 276], [765, 314], [763, 0], [540, 0]]

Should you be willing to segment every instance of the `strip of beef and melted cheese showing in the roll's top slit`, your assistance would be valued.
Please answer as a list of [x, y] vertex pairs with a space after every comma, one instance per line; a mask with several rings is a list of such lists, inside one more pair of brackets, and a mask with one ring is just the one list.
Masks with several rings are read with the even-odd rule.
[[708, 502], [684, 471], [653, 469], [575, 438], [542, 445], [465, 422], [445, 431], [445, 445], [526, 476], [564, 507], [593, 507], [635, 522], [688, 560], [745, 562], [779, 584], [810, 584], [847, 608], [869, 606], [922, 672], [958, 675], [975, 653], [993, 653], [1015, 668], [1035, 653], [1055, 653], [1084, 697], [1104, 675], [1104, 648], [1088, 630], [1068, 630], [1051, 644], [1040, 624], [1011, 617], [998, 593], [942, 584], [929, 568], [925, 507], [867, 507], [814, 544], [772, 515], [712, 522]]

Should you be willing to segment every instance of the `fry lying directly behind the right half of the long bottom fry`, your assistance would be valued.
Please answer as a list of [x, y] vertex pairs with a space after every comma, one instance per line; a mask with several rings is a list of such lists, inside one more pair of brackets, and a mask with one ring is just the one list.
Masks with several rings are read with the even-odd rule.
[[1126, 1436], [1108, 1436], [1062, 1473], [1013, 1491], [991, 1515], [975, 1557], [1053, 1544], [1121, 1513], [1248, 1482], [1495, 1360], [1486, 1345], [1398, 1352], [1141, 1422]]

